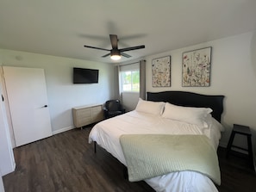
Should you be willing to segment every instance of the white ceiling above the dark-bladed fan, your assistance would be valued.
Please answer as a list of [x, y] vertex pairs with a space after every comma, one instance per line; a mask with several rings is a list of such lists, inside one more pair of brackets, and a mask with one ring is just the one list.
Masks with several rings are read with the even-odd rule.
[[[111, 63], [109, 34], [140, 59], [256, 29], [256, 0], [0, 1], [0, 48]], [[122, 58], [120, 62], [128, 61]]]

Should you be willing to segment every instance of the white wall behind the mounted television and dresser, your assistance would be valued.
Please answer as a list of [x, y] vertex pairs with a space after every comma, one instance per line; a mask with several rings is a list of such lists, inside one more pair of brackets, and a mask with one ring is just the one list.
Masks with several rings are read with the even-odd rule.
[[[0, 49], [2, 65], [42, 68], [46, 73], [53, 133], [73, 127], [72, 108], [115, 97], [114, 65]], [[98, 84], [72, 84], [73, 67], [99, 69]]]

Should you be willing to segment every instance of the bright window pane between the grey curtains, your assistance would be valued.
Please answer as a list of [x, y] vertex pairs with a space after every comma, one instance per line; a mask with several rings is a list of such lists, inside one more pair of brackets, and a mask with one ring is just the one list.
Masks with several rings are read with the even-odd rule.
[[140, 71], [121, 71], [122, 92], [140, 92]]

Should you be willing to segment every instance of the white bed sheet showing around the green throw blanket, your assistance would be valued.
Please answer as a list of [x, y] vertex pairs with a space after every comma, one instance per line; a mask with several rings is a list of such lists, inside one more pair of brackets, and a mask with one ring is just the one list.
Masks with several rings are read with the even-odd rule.
[[[131, 111], [97, 123], [89, 135], [89, 142], [97, 141], [122, 164], [126, 164], [119, 138], [122, 134], [205, 134], [217, 149], [222, 126], [209, 117], [209, 127], [198, 127], [180, 121], [172, 121], [158, 115], [148, 115]], [[171, 191], [217, 191], [215, 184], [201, 173], [195, 171], [172, 172], [164, 176], [145, 180], [158, 192]]]

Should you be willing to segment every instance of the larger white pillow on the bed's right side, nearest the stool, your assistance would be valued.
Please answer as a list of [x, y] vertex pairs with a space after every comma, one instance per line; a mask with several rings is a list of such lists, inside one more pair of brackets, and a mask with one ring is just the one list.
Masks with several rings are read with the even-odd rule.
[[208, 127], [207, 115], [211, 112], [211, 108], [182, 107], [166, 102], [162, 117], [176, 121], [184, 121], [199, 127]]

